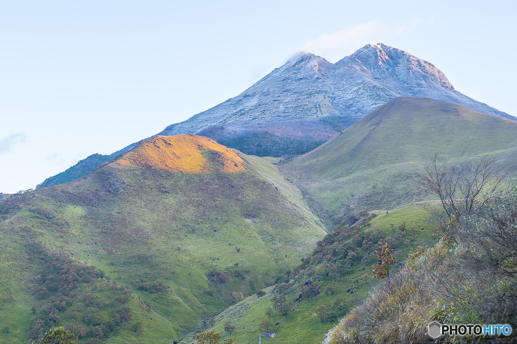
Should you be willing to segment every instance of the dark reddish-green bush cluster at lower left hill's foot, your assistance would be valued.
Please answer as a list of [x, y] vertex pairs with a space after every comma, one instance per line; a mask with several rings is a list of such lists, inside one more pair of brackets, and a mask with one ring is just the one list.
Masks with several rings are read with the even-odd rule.
[[[32, 309], [29, 342], [38, 342], [45, 331], [57, 326], [64, 326], [78, 338], [103, 338], [130, 324], [131, 308], [125, 305], [132, 298], [129, 287], [110, 283], [104, 272], [68, 255], [34, 243], [28, 245], [33, 259], [42, 265], [28, 286], [42, 300], [38, 309]], [[63, 316], [65, 312], [67, 316]]]

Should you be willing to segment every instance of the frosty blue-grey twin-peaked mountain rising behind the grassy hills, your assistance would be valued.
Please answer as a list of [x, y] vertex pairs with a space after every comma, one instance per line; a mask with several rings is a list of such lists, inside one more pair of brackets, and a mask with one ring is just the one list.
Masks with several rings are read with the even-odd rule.
[[301, 154], [399, 96], [449, 101], [515, 120], [455, 90], [432, 63], [379, 43], [335, 64], [300, 53], [238, 96], [159, 135], [199, 134], [259, 156]]

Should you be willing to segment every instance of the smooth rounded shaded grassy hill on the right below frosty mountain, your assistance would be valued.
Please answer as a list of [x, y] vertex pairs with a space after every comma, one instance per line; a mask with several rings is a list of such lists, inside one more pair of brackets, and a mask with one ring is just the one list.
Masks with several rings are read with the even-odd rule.
[[394, 208], [424, 200], [413, 184], [435, 154], [453, 163], [488, 154], [517, 163], [517, 122], [448, 102], [399, 97], [377, 108], [282, 171], [329, 227], [350, 209]]

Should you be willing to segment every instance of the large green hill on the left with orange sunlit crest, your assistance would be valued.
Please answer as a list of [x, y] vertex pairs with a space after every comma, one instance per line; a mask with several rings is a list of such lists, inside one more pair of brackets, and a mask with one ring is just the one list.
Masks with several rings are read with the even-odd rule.
[[269, 163], [244, 158], [199, 136], [155, 137], [4, 200], [0, 341], [59, 324], [83, 328], [81, 342], [172, 343], [275, 283], [326, 232], [278, 171], [265, 178]]

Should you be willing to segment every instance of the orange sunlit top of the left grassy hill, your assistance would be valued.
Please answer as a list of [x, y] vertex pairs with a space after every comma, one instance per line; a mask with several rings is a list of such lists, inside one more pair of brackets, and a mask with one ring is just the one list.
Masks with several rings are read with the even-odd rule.
[[115, 163], [171, 172], [241, 172], [247, 168], [235, 152], [197, 135], [156, 136], [139, 144]]

